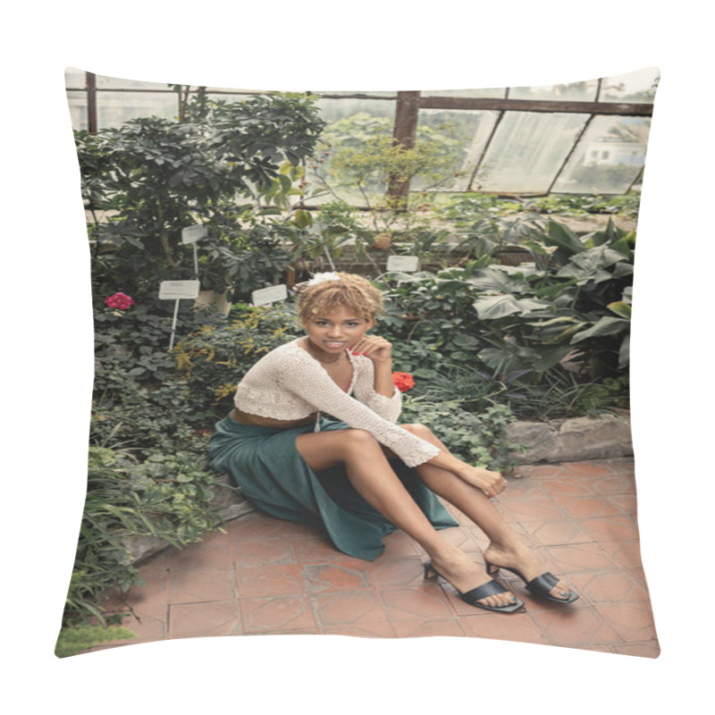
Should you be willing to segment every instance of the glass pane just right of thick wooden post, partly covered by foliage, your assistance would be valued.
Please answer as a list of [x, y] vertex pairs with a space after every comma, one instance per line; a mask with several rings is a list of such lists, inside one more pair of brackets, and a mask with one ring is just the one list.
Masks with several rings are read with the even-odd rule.
[[[420, 130], [426, 137], [432, 136], [444, 145], [446, 152], [454, 157], [449, 180], [440, 183], [442, 191], [466, 191], [479, 157], [482, 155], [498, 112], [476, 112], [468, 110], [421, 109], [417, 123], [417, 137]], [[453, 176], [458, 173], [458, 176]], [[423, 189], [415, 181], [412, 189]]]

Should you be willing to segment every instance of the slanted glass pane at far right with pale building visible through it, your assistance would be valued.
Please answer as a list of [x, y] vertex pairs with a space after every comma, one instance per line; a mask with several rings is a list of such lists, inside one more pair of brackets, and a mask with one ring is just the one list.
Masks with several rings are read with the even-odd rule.
[[554, 193], [626, 192], [645, 163], [650, 130], [650, 117], [594, 117]]

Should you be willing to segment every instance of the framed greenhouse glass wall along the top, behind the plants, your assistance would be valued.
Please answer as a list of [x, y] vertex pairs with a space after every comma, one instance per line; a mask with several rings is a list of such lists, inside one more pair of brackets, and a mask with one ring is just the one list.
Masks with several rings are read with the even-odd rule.
[[[324, 179], [336, 150], [383, 132], [403, 147], [432, 141], [450, 157], [450, 170], [440, 181], [416, 177], [412, 190], [625, 194], [642, 181], [658, 79], [656, 69], [647, 69], [543, 87], [307, 92], [316, 97], [327, 122], [324, 139], [330, 151], [321, 164], [307, 167], [306, 178]], [[257, 94], [120, 80], [73, 69], [66, 81], [72, 125], [89, 131], [141, 116], [176, 119], [184, 95], [201, 92], [240, 101]], [[349, 186], [341, 188], [340, 198], [361, 202]]]

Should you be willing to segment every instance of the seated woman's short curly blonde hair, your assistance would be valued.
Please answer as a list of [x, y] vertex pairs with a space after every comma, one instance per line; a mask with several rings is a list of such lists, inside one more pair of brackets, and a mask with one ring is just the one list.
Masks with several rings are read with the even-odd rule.
[[337, 278], [301, 287], [298, 316], [305, 323], [314, 315], [332, 313], [338, 307], [354, 310], [364, 320], [373, 320], [383, 309], [383, 294], [355, 273], [334, 273]]

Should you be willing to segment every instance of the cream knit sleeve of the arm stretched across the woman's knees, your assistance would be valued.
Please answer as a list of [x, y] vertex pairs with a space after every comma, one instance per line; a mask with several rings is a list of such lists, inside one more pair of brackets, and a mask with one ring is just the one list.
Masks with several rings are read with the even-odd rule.
[[283, 389], [299, 395], [315, 408], [351, 427], [371, 433], [408, 467], [424, 464], [440, 453], [435, 445], [376, 415], [371, 408], [343, 392], [305, 350], [295, 351], [291, 359], [285, 361], [280, 370], [280, 380]]

